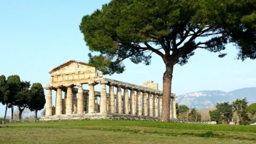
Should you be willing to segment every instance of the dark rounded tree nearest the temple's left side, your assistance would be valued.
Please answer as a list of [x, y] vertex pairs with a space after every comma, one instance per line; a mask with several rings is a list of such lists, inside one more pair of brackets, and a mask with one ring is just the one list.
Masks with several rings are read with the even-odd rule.
[[30, 88], [31, 100], [29, 102], [29, 109], [35, 111], [35, 118], [37, 118], [38, 110], [44, 108], [45, 95], [41, 83], [33, 83]]

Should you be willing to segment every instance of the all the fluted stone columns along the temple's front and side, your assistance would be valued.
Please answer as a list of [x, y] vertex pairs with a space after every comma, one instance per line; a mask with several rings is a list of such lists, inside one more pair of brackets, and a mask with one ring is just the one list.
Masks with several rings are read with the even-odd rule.
[[[95, 99], [94, 85], [95, 82], [89, 84], [89, 95], [87, 97], [87, 113], [95, 113], [95, 107], [98, 108], [97, 98]], [[115, 85], [113, 83], [100, 82], [101, 94], [100, 94], [100, 113], [102, 114], [131, 114], [131, 115], [143, 115], [143, 116], [161, 116], [162, 111], [162, 96], [157, 93], [149, 91], [134, 89], [134, 87]], [[107, 85], [109, 86], [109, 97], [107, 99]], [[62, 87], [55, 87], [57, 89], [56, 95], [56, 115], [63, 113], [71, 115], [73, 113], [84, 114], [84, 95], [82, 84], [78, 86], [78, 95], [73, 93], [74, 85], [67, 86], [65, 92], [65, 99], [62, 105]], [[114, 94], [114, 87], [116, 87], [116, 96]], [[46, 116], [52, 115], [52, 88], [46, 87]], [[124, 89], [122, 98], [122, 89]], [[129, 100], [130, 90], [130, 100]], [[135, 94], [136, 92], [136, 94]], [[74, 97], [75, 95], [75, 97]], [[63, 107], [63, 108], [62, 108]], [[170, 118], [176, 118], [175, 99], [172, 98]]]

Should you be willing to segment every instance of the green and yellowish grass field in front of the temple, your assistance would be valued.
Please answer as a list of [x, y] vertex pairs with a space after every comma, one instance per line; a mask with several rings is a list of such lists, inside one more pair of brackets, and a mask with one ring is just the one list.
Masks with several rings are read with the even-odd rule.
[[81, 120], [0, 125], [0, 143], [256, 143], [256, 126]]

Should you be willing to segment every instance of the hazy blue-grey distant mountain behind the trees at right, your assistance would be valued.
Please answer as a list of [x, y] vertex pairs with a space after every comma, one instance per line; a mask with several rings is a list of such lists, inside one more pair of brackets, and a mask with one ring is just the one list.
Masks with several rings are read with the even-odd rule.
[[179, 105], [190, 108], [207, 108], [216, 105], [217, 102], [229, 102], [231, 100], [247, 98], [249, 105], [256, 103], [256, 87], [246, 87], [230, 92], [223, 91], [198, 91], [178, 95], [176, 101]]

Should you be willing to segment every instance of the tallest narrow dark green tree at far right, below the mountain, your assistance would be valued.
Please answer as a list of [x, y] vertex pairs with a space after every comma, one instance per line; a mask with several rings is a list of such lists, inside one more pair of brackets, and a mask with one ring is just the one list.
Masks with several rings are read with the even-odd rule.
[[239, 124], [248, 124], [249, 117], [246, 111], [247, 103], [246, 98], [242, 100], [236, 99], [236, 101], [233, 102], [233, 107], [238, 115]]

